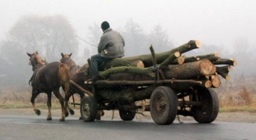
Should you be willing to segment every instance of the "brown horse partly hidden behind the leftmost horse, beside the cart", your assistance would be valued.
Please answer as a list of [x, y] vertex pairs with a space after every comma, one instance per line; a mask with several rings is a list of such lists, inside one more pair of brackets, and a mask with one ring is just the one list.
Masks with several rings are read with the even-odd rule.
[[[91, 91], [89, 86], [87, 84], [84, 84], [84, 81], [87, 81], [89, 79], [88, 64], [84, 64], [84, 66], [82, 66], [82, 67], [77, 66], [76, 63], [70, 58], [71, 55], [72, 55], [72, 53], [70, 53], [70, 54], [61, 53], [62, 58], [61, 58], [60, 62], [66, 64], [68, 66], [68, 68], [70, 70], [71, 80], [73, 80], [75, 83], [77, 83], [82, 88], [84, 88], [88, 91]], [[80, 95], [80, 99], [82, 99], [84, 97], [83, 91], [78, 89], [73, 84], [70, 84], [70, 92], [67, 94], [67, 96], [65, 95], [64, 100], [67, 102], [69, 100], [69, 98], [73, 94], [76, 94], [76, 93]], [[104, 115], [104, 112], [102, 110], [99, 110], [96, 120], [100, 120], [100, 117], [103, 115]], [[79, 118], [79, 120], [80, 119], [81, 119], [81, 117]]]

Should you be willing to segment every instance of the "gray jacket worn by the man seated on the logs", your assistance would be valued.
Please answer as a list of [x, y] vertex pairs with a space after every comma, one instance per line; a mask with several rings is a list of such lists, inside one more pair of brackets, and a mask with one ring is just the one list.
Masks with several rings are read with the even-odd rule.
[[121, 34], [109, 28], [103, 32], [100, 38], [98, 53], [106, 58], [123, 57], [125, 56], [124, 46], [125, 41]]

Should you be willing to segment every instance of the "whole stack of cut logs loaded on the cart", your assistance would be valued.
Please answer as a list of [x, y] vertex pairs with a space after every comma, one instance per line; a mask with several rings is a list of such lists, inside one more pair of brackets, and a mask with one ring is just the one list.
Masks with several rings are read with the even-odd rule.
[[218, 75], [230, 80], [228, 73], [237, 62], [222, 59], [218, 53], [181, 56], [200, 47], [200, 41], [191, 40], [170, 51], [155, 54], [151, 46], [151, 54], [108, 61], [99, 68], [101, 80], [94, 83], [99, 89], [97, 92], [106, 100], [136, 101], [149, 98], [151, 89], [157, 84], [177, 91], [186, 91], [194, 86], [218, 88], [221, 85]]

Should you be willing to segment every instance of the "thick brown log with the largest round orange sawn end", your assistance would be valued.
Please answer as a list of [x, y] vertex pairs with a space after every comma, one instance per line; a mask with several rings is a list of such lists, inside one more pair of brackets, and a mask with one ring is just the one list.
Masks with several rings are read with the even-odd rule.
[[201, 75], [214, 74], [212, 71], [215, 66], [209, 60], [200, 60], [191, 63], [183, 63], [182, 65], [169, 65], [164, 73], [167, 79], [191, 79]]

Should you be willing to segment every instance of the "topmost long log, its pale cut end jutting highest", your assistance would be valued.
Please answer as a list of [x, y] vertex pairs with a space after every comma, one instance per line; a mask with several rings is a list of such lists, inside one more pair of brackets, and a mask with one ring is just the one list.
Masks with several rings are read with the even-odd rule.
[[[157, 63], [160, 64], [164, 60], [166, 60], [167, 57], [174, 54], [175, 52], [179, 52], [180, 54], [183, 54], [187, 51], [190, 51], [192, 49], [197, 49], [201, 47], [201, 42], [199, 40], [190, 40], [188, 43], [185, 43], [175, 49], [172, 49], [170, 51], [162, 52], [159, 54], [155, 54], [157, 58]], [[135, 57], [123, 57], [123, 58], [114, 58], [111, 61], [106, 62], [103, 66], [100, 67], [100, 71], [109, 69], [112, 67], [118, 67], [118, 66], [137, 66], [136, 62], [142, 61], [145, 67], [152, 66], [152, 56], [151, 54], [145, 54], [145, 55], [139, 55]]]

